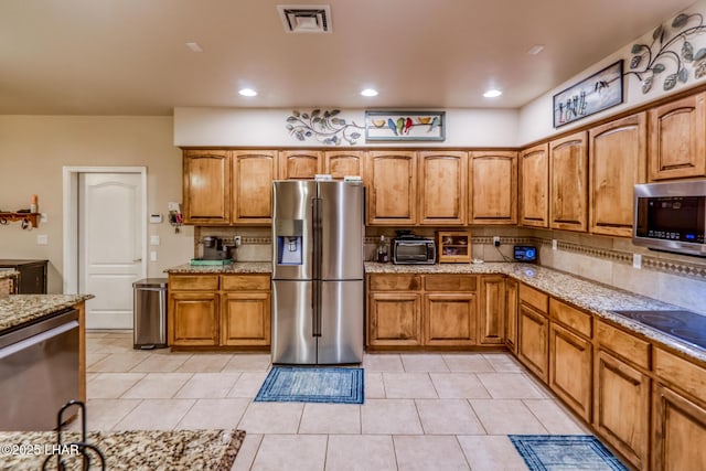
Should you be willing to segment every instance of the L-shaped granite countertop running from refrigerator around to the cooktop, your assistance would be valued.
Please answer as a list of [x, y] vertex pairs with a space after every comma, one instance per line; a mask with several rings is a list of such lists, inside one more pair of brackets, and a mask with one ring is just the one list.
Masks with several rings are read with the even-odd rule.
[[564, 274], [553, 268], [517, 263], [486, 264], [440, 264], [440, 265], [393, 265], [365, 263], [367, 274], [502, 274], [556, 299], [585, 309], [601, 319], [612, 321], [657, 343], [672, 347], [685, 355], [706, 362], [706, 350], [682, 342], [656, 329], [618, 314], [621, 310], [681, 310], [674, 304], [635, 295], [598, 281]]

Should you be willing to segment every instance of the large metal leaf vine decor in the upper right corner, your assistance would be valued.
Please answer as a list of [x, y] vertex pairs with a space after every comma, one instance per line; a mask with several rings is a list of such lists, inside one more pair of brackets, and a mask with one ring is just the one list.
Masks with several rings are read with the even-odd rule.
[[666, 28], [660, 24], [652, 32], [651, 44], [633, 44], [625, 75], [638, 77], [643, 94], [661, 77], [664, 90], [671, 90], [677, 82], [685, 84], [689, 78], [687, 65], [694, 69], [695, 78], [705, 76], [706, 47], [696, 50], [693, 43], [704, 32], [706, 25], [700, 13], [677, 14]]

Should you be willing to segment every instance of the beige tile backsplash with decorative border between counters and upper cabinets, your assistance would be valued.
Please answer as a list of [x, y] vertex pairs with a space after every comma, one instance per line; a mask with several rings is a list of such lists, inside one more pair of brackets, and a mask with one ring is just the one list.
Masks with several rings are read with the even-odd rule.
[[[374, 259], [379, 236], [385, 235], [391, 239], [396, 228], [402, 227], [366, 227], [363, 246], [366, 260]], [[446, 228], [411, 229], [417, 235], [432, 238], [436, 229]], [[536, 245], [539, 265], [706, 314], [706, 259], [652, 251], [620, 237], [505, 226], [468, 229], [471, 232], [473, 258], [485, 261], [512, 260], [514, 245]], [[206, 235], [224, 237], [226, 242], [239, 235], [242, 246], [235, 254], [236, 260], [271, 259], [269, 227], [195, 227], [195, 257], [201, 250], [199, 240]], [[500, 247], [493, 246], [493, 236], [500, 236]], [[553, 240], [556, 240], [556, 249], [552, 248]], [[634, 254], [642, 256], [640, 268], [632, 265]]]

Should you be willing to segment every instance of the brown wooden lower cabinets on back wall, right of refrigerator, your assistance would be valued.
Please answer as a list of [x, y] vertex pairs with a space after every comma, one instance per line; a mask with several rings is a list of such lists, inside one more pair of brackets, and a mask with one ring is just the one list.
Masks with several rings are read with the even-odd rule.
[[368, 274], [367, 288], [371, 350], [463, 349], [505, 341], [503, 276]]

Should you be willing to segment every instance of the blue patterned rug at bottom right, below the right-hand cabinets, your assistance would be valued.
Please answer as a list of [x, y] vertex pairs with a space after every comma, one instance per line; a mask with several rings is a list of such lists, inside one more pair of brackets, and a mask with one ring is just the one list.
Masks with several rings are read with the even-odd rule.
[[590, 435], [510, 435], [531, 471], [628, 471]]

